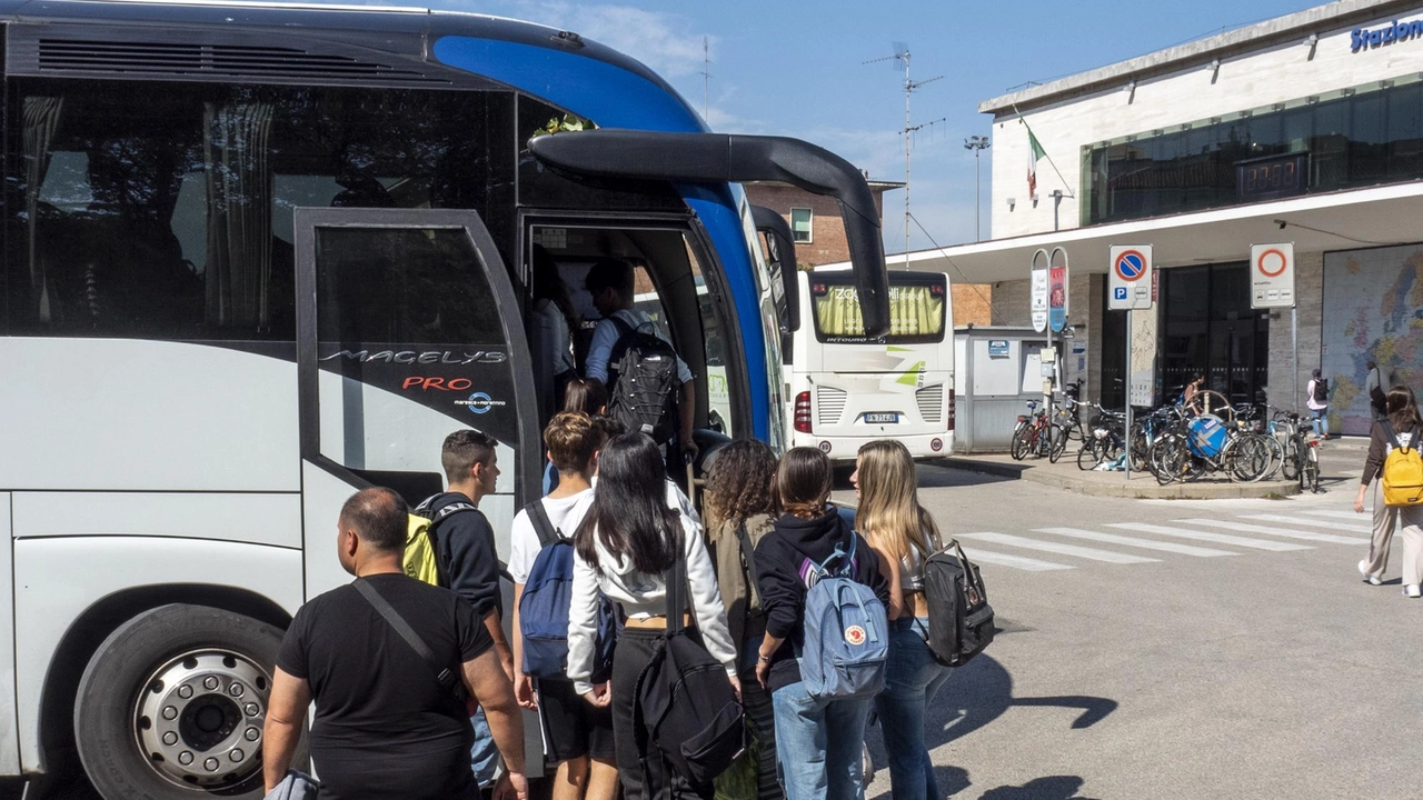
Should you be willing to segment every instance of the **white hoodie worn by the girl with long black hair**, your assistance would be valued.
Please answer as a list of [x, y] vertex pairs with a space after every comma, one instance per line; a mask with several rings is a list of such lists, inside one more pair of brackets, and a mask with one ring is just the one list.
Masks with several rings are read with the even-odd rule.
[[[700, 527], [686, 515], [682, 520], [683, 557], [687, 561], [687, 584], [692, 589], [692, 612], [702, 643], [712, 658], [726, 666], [727, 675], [736, 675], [736, 648], [726, 626], [726, 608], [717, 589], [712, 557], [702, 542]], [[568, 678], [579, 695], [592, 692], [588, 682], [593, 672], [593, 638], [598, 633], [598, 592], [623, 608], [629, 619], [662, 616], [667, 614], [667, 586], [662, 575], [646, 575], [609, 554], [596, 530], [593, 541], [598, 547], [599, 574], [582, 557], [573, 557], [573, 604], [568, 611]]]

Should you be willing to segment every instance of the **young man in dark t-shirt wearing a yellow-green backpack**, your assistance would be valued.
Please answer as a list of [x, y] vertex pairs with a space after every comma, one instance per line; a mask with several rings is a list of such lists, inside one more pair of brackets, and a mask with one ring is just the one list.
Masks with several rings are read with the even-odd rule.
[[[470, 508], [448, 514], [440, 522], [431, 524], [435, 538], [435, 561], [440, 565], [443, 585], [474, 606], [474, 614], [484, 621], [494, 639], [494, 649], [504, 665], [504, 672], [514, 680], [514, 652], [504, 636], [504, 598], [499, 591], [499, 554], [494, 547], [494, 528], [480, 511], [480, 500], [494, 494], [499, 480], [498, 441], [484, 431], [462, 428], [444, 440], [440, 463], [450, 481], [444, 494], [437, 494], [420, 504], [420, 511], [434, 518], [441, 508], [462, 502]], [[499, 753], [490, 736], [490, 727], [482, 710], [472, 717], [474, 747], [470, 750], [470, 767], [481, 789], [494, 784], [499, 773]]]

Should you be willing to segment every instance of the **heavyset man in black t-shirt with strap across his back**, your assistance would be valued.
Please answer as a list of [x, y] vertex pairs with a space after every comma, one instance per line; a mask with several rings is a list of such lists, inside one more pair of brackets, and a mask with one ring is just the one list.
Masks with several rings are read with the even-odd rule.
[[[525, 800], [524, 722], [514, 688], [474, 608], [401, 571], [404, 501], [387, 488], [363, 490], [346, 501], [337, 528], [342, 567], [376, 589], [435, 659], [462, 676], [504, 757], [501, 787]], [[322, 800], [478, 794], [465, 700], [440, 685], [434, 666], [354, 584], [302, 606], [282, 641], [265, 726], [268, 791], [292, 764], [313, 699], [310, 747]]]

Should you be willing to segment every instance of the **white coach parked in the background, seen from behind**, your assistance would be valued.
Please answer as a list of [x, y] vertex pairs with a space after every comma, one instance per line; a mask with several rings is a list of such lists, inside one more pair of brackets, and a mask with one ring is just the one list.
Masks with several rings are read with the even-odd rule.
[[889, 333], [869, 336], [848, 270], [800, 273], [808, 320], [785, 367], [791, 444], [854, 461], [875, 438], [915, 458], [953, 451], [953, 303], [943, 273], [889, 272]]

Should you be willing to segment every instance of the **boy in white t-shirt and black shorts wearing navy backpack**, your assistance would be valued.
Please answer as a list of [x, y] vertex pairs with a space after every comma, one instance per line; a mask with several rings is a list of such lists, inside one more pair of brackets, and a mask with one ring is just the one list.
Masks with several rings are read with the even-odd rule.
[[[561, 477], [558, 488], [539, 500], [554, 528], [571, 535], [583, 521], [593, 498], [593, 456], [602, 447], [602, 428], [582, 411], [564, 411], [544, 428], [548, 458]], [[527, 510], [509, 530], [509, 577], [514, 579], [514, 689], [519, 705], [536, 710], [544, 726], [548, 760], [558, 763], [554, 800], [613, 800], [618, 764], [613, 717], [606, 707], [589, 706], [564, 679], [524, 675], [524, 632], [519, 598], [544, 545]]]

